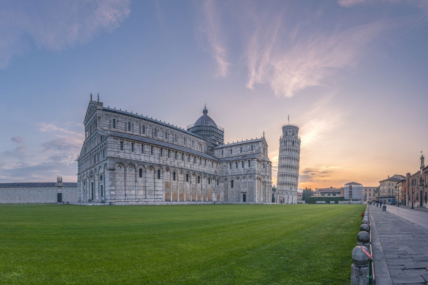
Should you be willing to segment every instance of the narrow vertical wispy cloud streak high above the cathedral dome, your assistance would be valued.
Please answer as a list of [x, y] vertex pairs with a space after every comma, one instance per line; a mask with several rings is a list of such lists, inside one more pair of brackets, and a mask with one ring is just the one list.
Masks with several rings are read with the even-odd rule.
[[226, 59], [223, 27], [214, 0], [205, 0], [202, 7], [202, 19], [199, 31], [205, 34], [211, 55], [217, 62], [217, 76], [226, 77], [230, 63]]

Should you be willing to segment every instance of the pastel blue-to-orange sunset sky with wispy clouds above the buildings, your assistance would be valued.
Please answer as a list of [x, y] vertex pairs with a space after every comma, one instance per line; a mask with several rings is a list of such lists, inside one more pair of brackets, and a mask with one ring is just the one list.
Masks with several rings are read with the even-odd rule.
[[0, 0], [0, 182], [77, 180], [89, 93], [225, 142], [300, 127], [299, 187], [428, 153], [428, 0]]

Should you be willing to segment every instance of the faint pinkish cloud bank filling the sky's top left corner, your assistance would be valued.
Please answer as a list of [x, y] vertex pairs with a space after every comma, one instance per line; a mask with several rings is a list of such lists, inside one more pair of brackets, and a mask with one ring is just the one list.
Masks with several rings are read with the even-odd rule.
[[[4, 4], [4, 3], [3, 3]], [[13, 56], [39, 49], [58, 52], [112, 32], [130, 14], [129, 0], [12, 1], [0, 11], [0, 68]]]

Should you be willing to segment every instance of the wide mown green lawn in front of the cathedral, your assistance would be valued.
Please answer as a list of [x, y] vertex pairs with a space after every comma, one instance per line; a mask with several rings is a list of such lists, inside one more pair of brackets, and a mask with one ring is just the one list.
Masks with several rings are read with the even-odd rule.
[[364, 205], [0, 205], [0, 283], [349, 284]]

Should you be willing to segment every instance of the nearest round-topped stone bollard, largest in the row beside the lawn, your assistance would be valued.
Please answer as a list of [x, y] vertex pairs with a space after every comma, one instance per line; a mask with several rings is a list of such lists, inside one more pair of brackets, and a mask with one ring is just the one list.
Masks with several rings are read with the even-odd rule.
[[355, 246], [352, 249], [354, 263], [351, 265], [351, 285], [369, 284], [369, 257], [361, 250], [362, 247], [368, 251], [365, 246]]

